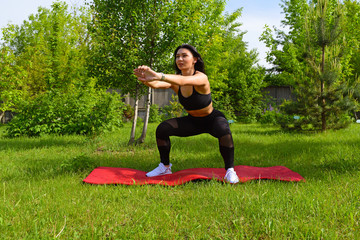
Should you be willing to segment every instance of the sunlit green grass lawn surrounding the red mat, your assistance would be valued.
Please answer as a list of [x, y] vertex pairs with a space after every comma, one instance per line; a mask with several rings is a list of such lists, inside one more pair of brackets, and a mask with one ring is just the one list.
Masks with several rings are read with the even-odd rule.
[[[317, 134], [231, 125], [236, 165], [283, 165], [302, 183], [82, 183], [96, 166], [153, 169], [155, 129], [150, 124], [143, 145], [127, 147], [130, 125], [93, 138], [15, 139], [1, 126], [0, 239], [360, 238], [359, 124]], [[223, 167], [209, 135], [172, 138], [171, 161], [174, 171]]]

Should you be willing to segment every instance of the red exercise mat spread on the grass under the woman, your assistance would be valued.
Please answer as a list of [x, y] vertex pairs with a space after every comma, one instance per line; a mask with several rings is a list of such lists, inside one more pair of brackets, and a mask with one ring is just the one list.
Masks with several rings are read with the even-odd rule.
[[[283, 166], [235, 166], [235, 171], [240, 179], [240, 182], [247, 182], [249, 180], [256, 179], [273, 179], [287, 182], [305, 181], [300, 174]], [[216, 179], [218, 181], [224, 181], [225, 173], [224, 168], [192, 168], [168, 175], [146, 177], [146, 172], [136, 169], [98, 167], [95, 168], [83, 181], [90, 184], [160, 184], [176, 186], [197, 179]]]

